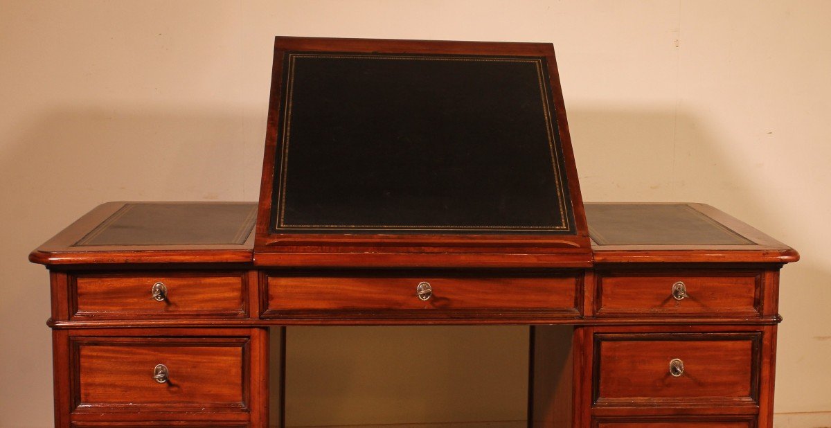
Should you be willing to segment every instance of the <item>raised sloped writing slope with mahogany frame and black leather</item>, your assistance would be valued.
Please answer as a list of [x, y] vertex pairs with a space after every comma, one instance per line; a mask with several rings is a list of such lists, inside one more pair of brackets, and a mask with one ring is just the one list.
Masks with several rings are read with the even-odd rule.
[[278, 37], [255, 260], [585, 266], [553, 47]]

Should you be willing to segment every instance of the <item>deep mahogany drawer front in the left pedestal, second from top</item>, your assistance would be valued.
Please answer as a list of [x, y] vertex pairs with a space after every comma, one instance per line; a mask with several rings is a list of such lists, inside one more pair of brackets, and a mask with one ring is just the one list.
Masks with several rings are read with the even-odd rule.
[[[248, 342], [248, 337], [73, 337], [73, 409], [246, 411]], [[161, 372], [163, 382], [154, 378]]]

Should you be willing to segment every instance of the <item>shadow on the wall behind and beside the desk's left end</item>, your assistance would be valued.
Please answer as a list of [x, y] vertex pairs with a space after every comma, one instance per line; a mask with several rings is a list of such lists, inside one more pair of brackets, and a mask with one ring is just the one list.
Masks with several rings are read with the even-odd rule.
[[2, 135], [0, 341], [14, 346], [0, 347], [0, 378], [15, 387], [0, 402], [15, 411], [0, 426], [53, 423], [48, 275], [33, 248], [108, 200], [257, 199], [264, 117], [125, 111], [51, 111]]

